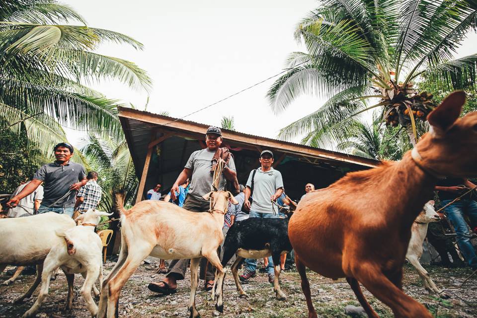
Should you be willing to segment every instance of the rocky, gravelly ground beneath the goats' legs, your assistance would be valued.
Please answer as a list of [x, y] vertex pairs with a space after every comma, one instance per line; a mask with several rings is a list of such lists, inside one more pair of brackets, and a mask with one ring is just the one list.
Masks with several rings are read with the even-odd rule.
[[[107, 274], [113, 262], [107, 262], [104, 273]], [[187, 301], [189, 298], [188, 280], [179, 283], [178, 292], [171, 296], [157, 297], [147, 289], [149, 282], [159, 280], [161, 275], [156, 274], [158, 264], [143, 264], [129, 280], [122, 291], [119, 305], [121, 317], [188, 317]], [[405, 267], [404, 291], [412, 298], [424, 304], [435, 317], [440, 318], [474, 318], [477, 317], [477, 275], [469, 279], [466, 284], [457, 288], [472, 271], [470, 269], [447, 269], [436, 266], [425, 266], [438, 286], [445, 286], [452, 293], [449, 300], [440, 300], [430, 295], [423, 287], [416, 271], [409, 265]], [[10, 267], [12, 268], [12, 267]], [[312, 289], [312, 297], [319, 317], [349, 317], [344, 314], [347, 305], [358, 305], [353, 292], [346, 283], [332, 281], [316, 273], [308, 274]], [[1, 280], [7, 279], [5, 272]], [[235, 284], [230, 275], [226, 276], [224, 295], [224, 313], [214, 311], [214, 305], [208, 297], [210, 294], [201, 290], [197, 292], [197, 309], [202, 317], [307, 317], [305, 297], [300, 288], [300, 277], [296, 271], [282, 273], [282, 289], [288, 296], [286, 301], [277, 301], [272, 286], [267, 281], [266, 274], [258, 274], [256, 278], [243, 287], [248, 293], [248, 298], [239, 298]], [[32, 304], [38, 295], [25, 303], [13, 306], [12, 300], [19, 297], [33, 282], [34, 276], [20, 276], [11, 286], [0, 287], [0, 318], [20, 317]], [[75, 288], [79, 290], [83, 282], [82, 277], [76, 276]], [[371, 296], [366, 290], [373, 308], [380, 317], [393, 317], [388, 307]], [[87, 318], [89, 313], [84, 306], [84, 301], [76, 297], [71, 313], [62, 311], [67, 295], [65, 276], [60, 274], [56, 281], [50, 285], [50, 294], [43, 303], [37, 317], [78, 317]]]

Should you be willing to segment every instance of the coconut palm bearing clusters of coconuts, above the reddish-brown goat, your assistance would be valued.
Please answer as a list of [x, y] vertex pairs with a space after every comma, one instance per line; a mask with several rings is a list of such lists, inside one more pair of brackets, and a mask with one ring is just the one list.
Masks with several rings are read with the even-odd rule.
[[328, 100], [281, 129], [279, 138], [333, 147], [354, 118], [379, 109], [388, 126], [403, 126], [410, 141], [436, 106], [432, 92], [476, 85], [477, 54], [453, 59], [477, 25], [475, 0], [322, 0], [295, 31], [306, 52], [294, 52], [288, 71], [270, 87], [275, 113], [302, 94]]

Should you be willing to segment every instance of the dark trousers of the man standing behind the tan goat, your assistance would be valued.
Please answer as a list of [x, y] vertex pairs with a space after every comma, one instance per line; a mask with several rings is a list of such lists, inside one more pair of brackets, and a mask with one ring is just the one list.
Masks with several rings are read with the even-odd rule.
[[[210, 209], [210, 202], [202, 198], [197, 199], [191, 195], [187, 195], [184, 201], [182, 208], [190, 212], [207, 212]], [[170, 261], [169, 269], [167, 271], [166, 277], [169, 275], [175, 277], [177, 280], [184, 279], [185, 272], [187, 270], [187, 265], [189, 265], [190, 259], [173, 259]], [[205, 280], [214, 280], [215, 278], [215, 267], [209, 263], [207, 258], [202, 257], [200, 259], [200, 272], [199, 278]]]

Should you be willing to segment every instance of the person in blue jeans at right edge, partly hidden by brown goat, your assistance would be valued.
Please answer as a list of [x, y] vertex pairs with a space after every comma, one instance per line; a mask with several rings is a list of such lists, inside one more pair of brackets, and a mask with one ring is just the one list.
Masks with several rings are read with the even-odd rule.
[[[442, 206], [445, 206], [474, 187], [476, 185], [465, 178], [447, 177], [439, 180], [435, 190], [439, 191], [439, 199]], [[444, 209], [447, 218], [456, 231], [457, 245], [459, 245], [462, 255], [473, 270], [477, 269], [477, 255], [471, 243], [471, 234], [464, 215], [469, 217], [473, 226], [477, 225], [477, 202], [475, 198], [476, 193], [472, 191]]]

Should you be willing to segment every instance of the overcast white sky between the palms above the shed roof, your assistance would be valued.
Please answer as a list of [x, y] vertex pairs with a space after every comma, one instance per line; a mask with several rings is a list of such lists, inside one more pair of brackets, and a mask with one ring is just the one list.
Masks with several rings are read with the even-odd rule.
[[[132, 36], [145, 46], [103, 45], [98, 52], [135, 62], [154, 81], [148, 111], [182, 117], [283, 70], [298, 21], [316, 0], [62, 0], [88, 26]], [[472, 34], [459, 55], [475, 53]], [[278, 130], [317, 109], [322, 100], [303, 97], [275, 116], [266, 99], [273, 79], [185, 119], [220, 125], [235, 117], [240, 132], [275, 138]], [[103, 81], [94, 87], [144, 109], [148, 93]], [[76, 144], [79, 134], [69, 132]]]

